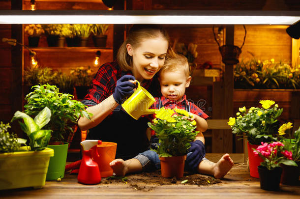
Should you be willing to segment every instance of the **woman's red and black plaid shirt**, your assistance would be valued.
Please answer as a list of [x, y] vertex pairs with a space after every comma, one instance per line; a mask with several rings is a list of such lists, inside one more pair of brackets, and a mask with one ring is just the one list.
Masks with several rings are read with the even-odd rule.
[[[82, 103], [90, 107], [90, 106], [95, 106], [100, 102], [102, 102], [103, 100], [105, 100], [106, 98], [108, 98], [110, 95], [114, 93], [117, 85], [117, 81], [123, 75], [133, 75], [133, 74], [131, 71], [122, 71], [117, 61], [103, 64], [99, 68], [98, 72], [95, 74], [92, 80], [92, 84], [90, 85], [88, 94], [85, 96]], [[141, 86], [143, 86], [146, 90], [152, 89], [154, 91], [154, 95], [157, 96], [160, 87], [157, 87], [157, 85], [159, 84], [157, 83], [154, 84], [154, 82], [158, 82], [158, 81], [153, 81], [153, 79], [144, 80], [141, 83]]]

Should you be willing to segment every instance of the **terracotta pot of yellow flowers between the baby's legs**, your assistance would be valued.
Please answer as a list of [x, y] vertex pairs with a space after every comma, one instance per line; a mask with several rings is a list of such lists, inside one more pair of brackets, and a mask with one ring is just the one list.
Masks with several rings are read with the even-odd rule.
[[160, 157], [159, 159], [161, 166], [161, 176], [176, 178], [183, 177], [184, 161], [186, 159], [186, 155], [167, 158]]

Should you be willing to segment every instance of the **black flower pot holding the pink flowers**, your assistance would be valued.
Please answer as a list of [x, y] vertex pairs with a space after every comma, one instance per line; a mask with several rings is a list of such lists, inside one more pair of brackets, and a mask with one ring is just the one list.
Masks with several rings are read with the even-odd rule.
[[258, 166], [261, 189], [278, 191], [282, 173], [281, 167], [268, 170], [266, 167]]

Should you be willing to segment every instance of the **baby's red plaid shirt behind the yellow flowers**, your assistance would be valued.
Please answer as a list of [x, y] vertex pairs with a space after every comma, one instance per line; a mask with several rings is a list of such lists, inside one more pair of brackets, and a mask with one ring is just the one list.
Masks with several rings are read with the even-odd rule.
[[[155, 97], [155, 100], [156, 100], [156, 102], [154, 102], [152, 104], [152, 106], [150, 107], [150, 109], [159, 109], [159, 108], [162, 108], [162, 107], [160, 107], [160, 104], [159, 104], [159, 98]], [[194, 103], [189, 102], [186, 99], [186, 95], [183, 95], [182, 99], [179, 102], [176, 102], [174, 100], [170, 100], [170, 99], [168, 99], [168, 98], [166, 98], [164, 96], [161, 96], [160, 100], [161, 100], [162, 106], [165, 107], [166, 109], [174, 109], [174, 108], [183, 109], [185, 111], [189, 111], [192, 114], [199, 115], [200, 117], [202, 117], [204, 119], [207, 119], [209, 117], [209, 115], [205, 114]], [[189, 106], [189, 110], [186, 110], [187, 109], [186, 106]], [[151, 119], [155, 118], [155, 114], [152, 114], [151, 117], [152, 117]], [[155, 135], [155, 131], [153, 131], [151, 129], [151, 136], [153, 137], [154, 135]]]

